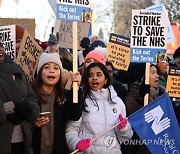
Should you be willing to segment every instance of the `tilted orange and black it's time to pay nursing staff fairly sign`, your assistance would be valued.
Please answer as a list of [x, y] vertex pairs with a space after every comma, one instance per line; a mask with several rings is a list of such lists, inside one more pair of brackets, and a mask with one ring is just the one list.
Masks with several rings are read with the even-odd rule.
[[130, 59], [130, 39], [111, 33], [108, 49], [108, 61], [120, 70], [128, 70]]

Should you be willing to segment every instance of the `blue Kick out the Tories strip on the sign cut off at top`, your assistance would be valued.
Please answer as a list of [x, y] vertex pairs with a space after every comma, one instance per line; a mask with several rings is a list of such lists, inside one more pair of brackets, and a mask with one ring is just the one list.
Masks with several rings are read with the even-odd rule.
[[89, 7], [56, 4], [56, 19], [65, 21], [90, 22], [92, 10]]

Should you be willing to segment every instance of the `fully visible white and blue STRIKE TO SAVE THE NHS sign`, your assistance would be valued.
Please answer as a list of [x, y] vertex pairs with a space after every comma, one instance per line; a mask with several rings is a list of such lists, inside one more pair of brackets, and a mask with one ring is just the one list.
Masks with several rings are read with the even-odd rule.
[[131, 62], [155, 62], [166, 49], [166, 21], [163, 11], [132, 10]]

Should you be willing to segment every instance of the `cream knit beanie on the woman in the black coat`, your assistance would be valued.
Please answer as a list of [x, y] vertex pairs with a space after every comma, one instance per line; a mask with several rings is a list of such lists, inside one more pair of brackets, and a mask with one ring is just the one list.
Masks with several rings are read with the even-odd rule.
[[56, 63], [60, 68], [62, 68], [62, 63], [58, 53], [42, 53], [37, 66], [37, 74], [41, 67], [46, 63]]

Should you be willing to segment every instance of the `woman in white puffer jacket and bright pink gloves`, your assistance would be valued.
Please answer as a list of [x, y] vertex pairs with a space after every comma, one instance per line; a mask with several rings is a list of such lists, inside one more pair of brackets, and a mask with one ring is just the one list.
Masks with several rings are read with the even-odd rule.
[[[95, 154], [121, 154], [120, 140], [132, 137], [132, 129], [126, 118], [126, 109], [111, 85], [105, 65], [91, 63], [82, 77], [83, 114], [77, 122], [69, 122], [66, 139], [71, 151]], [[90, 140], [121, 123], [104, 134], [90, 146]]]

